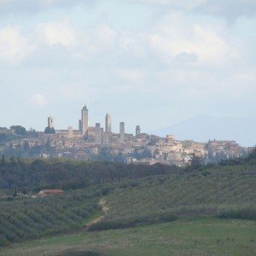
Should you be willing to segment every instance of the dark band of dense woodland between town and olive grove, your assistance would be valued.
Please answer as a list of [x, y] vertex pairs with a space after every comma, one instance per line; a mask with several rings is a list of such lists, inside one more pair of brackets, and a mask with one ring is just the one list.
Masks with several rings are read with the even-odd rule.
[[[3, 158], [0, 164], [0, 189], [42, 186], [64, 189], [106, 183], [124, 178], [147, 177], [177, 172], [177, 166], [137, 166], [117, 162], [79, 160], [20, 160]], [[45, 185], [46, 184], [46, 185]]]

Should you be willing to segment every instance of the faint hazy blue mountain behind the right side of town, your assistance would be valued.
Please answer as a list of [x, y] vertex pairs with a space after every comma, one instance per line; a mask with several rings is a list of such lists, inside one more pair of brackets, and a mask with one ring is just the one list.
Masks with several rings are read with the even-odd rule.
[[194, 140], [207, 143], [208, 140], [235, 140], [244, 147], [256, 145], [256, 116], [246, 118], [214, 118], [196, 116], [176, 125], [152, 133], [166, 137], [173, 134], [177, 140]]

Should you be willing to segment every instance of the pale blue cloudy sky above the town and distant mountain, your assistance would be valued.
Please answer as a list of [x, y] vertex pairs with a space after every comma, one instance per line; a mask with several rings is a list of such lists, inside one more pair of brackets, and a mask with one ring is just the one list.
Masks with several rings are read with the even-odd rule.
[[255, 118], [255, 27], [255, 0], [0, 0], [0, 127]]

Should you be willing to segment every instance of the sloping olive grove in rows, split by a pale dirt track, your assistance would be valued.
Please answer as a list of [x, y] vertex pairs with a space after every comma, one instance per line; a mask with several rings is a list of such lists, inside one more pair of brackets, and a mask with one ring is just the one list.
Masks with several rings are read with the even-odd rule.
[[[0, 247], [76, 232], [103, 214], [105, 218], [90, 230], [206, 214], [256, 220], [255, 174], [254, 165], [203, 166], [202, 170], [105, 181], [69, 189], [63, 195], [1, 201]], [[104, 205], [98, 204], [100, 200]]]

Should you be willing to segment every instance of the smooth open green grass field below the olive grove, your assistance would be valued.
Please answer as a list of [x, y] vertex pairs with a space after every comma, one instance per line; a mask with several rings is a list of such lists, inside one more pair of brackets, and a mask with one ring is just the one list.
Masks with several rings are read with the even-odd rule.
[[13, 244], [0, 255], [256, 255], [256, 222], [183, 217], [125, 230], [81, 230]]

